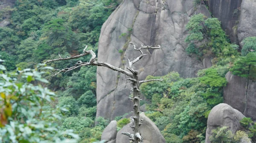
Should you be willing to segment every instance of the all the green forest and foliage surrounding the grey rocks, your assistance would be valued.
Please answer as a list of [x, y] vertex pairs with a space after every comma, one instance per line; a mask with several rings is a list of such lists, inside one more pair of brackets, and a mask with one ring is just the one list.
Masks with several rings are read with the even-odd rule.
[[[96, 66], [84, 66], [48, 78], [50, 70], [71, 67], [78, 60], [42, 64], [49, 59], [72, 57], [83, 46], [97, 54], [103, 23], [121, 0], [16, 0], [0, 11], [10, 24], [0, 27], [0, 143], [98, 143], [110, 119], [96, 118]], [[166, 143], [204, 143], [209, 112], [223, 103], [225, 75], [256, 80], [256, 37], [241, 45], [231, 43], [221, 22], [203, 14], [186, 25], [186, 54], [212, 67], [198, 70], [196, 78], [177, 72], [140, 87], [145, 115], [153, 121]], [[120, 35], [122, 37], [123, 35]], [[127, 115], [127, 114], [125, 114]], [[130, 122], [117, 116], [117, 130]], [[249, 126], [252, 124], [252, 126]], [[244, 118], [245, 129], [236, 134], [218, 128], [212, 143], [240, 143], [244, 136], [256, 140], [256, 123]], [[128, 142], [128, 141], [127, 141]], [[104, 143], [102, 141], [101, 143]]]

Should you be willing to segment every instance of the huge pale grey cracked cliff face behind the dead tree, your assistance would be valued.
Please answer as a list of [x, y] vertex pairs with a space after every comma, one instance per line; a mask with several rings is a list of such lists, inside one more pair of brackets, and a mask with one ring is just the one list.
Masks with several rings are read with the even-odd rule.
[[[102, 26], [98, 61], [125, 69], [127, 59], [124, 56], [134, 59], [140, 54], [132, 50], [127, 41], [137, 46], [161, 45], [160, 50], [145, 50], [148, 55], [134, 65], [140, 79], [148, 75], [163, 76], [171, 71], [184, 78], [195, 77], [204, 65], [186, 54], [184, 42], [185, 25], [195, 13], [210, 16], [204, 5], [195, 8], [193, 0], [164, 0], [164, 3], [162, 0], [124, 0]], [[125, 78], [105, 67], [97, 67], [96, 117], [113, 120], [132, 110], [127, 98], [131, 86], [130, 82], [122, 80]]]

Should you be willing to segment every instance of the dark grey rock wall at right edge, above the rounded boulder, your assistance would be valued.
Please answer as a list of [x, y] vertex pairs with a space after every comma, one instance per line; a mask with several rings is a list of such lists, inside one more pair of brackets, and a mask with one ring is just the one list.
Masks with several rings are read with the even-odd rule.
[[247, 78], [226, 74], [227, 86], [224, 87], [224, 103], [238, 109], [246, 117], [256, 120], [256, 82]]

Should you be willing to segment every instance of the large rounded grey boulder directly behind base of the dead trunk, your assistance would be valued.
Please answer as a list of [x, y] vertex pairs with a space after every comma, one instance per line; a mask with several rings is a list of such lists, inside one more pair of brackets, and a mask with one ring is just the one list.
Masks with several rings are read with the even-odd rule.
[[[163, 135], [157, 126], [147, 117], [144, 112], [140, 114], [140, 118], [143, 118], [143, 125], [140, 126], [141, 137], [143, 138], [143, 143], [165, 143]], [[122, 135], [122, 132], [133, 133], [130, 126], [132, 123], [128, 123], [116, 135], [116, 143], [128, 143], [128, 136]]]

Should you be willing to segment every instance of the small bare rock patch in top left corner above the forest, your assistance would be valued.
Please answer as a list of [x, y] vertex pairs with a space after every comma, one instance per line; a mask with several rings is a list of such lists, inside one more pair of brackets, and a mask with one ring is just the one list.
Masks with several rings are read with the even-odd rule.
[[[16, 0], [0, 0], [0, 11], [8, 6], [14, 6], [15, 1]], [[2, 17], [0, 17], [0, 27], [4, 27], [10, 24], [8, 18], [9, 14], [4, 14]]]

